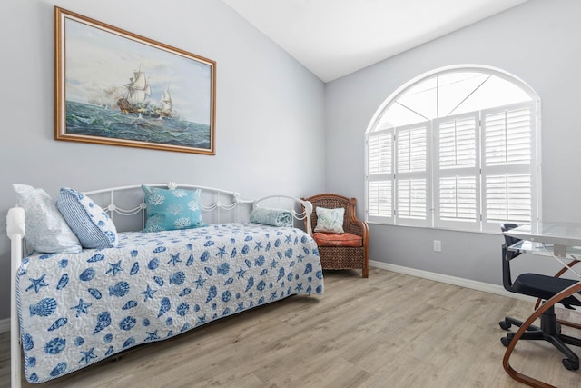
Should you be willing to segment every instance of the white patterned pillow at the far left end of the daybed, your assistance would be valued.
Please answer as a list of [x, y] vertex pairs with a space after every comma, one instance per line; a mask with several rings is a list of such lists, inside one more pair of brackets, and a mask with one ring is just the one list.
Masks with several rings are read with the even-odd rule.
[[46, 254], [81, 252], [81, 244], [43, 189], [13, 184], [18, 205], [25, 209], [26, 244]]

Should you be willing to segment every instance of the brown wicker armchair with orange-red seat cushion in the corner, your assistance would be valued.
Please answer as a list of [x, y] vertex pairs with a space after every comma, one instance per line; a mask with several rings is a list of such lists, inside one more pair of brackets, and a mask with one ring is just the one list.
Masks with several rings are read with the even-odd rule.
[[[318, 194], [310, 198], [302, 198], [313, 205], [310, 214], [313, 238], [317, 242], [320, 254], [320, 264], [323, 269], [361, 269], [362, 276], [369, 276], [369, 228], [367, 223], [357, 219], [355, 208], [357, 200], [337, 194]], [[314, 232], [317, 225], [317, 207], [327, 209], [344, 208], [344, 234], [322, 234]], [[305, 220], [305, 223], [307, 221]], [[329, 241], [329, 238], [332, 241]], [[343, 244], [349, 241], [349, 244]], [[356, 245], [356, 246], [353, 246]]]

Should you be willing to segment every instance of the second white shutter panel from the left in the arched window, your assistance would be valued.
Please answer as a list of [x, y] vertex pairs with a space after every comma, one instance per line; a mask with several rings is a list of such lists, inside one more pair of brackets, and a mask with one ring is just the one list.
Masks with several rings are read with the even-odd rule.
[[430, 123], [396, 129], [396, 220], [398, 224], [429, 226], [431, 216], [428, 169]]

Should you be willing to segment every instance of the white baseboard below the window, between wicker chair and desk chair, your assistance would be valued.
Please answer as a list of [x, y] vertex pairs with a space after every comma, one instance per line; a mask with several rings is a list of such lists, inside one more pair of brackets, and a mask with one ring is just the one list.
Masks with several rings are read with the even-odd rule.
[[375, 260], [369, 260], [369, 266], [379, 268], [382, 270], [387, 270], [391, 272], [396, 272], [399, 274], [409, 274], [410, 276], [420, 277], [422, 279], [434, 280], [436, 282], [458, 285], [460, 287], [470, 288], [472, 290], [484, 291], [485, 293], [496, 293], [497, 295], [508, 296], [511, 298], [522, 299], [525, 301], [535, 301], [535, 298], [531, 298], [527, 295], [521, 295], [518, 293], [509, 293], [504, 287], [497, 284], [489, 284], [484, 282], [478, 282], [476, 280], [465, 279], [457, 276], [450, 276], [448, 274], [437, 274], [429, 271], [417, 270], [414, 268], [404, 267], [396, 264], [388, 264], [383, 262], [377, 262]]

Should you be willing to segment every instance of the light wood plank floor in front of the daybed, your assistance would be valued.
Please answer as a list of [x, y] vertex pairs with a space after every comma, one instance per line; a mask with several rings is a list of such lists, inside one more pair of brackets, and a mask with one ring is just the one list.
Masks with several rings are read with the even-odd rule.
[[[521, 387], [502, 369], [505, 314], [532, 304], [371, 269], [325, 272], [323, 296], [292, 296], [25, 387]], [[578, 333], [577, 333], [578, 335]], [[520, 342], [517, 371], [581, 386], [547, 343]], [[0, 385], [9, 385], [0, 334]]]

